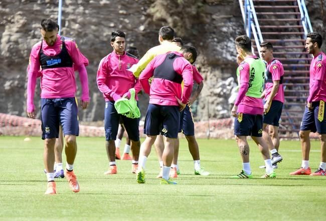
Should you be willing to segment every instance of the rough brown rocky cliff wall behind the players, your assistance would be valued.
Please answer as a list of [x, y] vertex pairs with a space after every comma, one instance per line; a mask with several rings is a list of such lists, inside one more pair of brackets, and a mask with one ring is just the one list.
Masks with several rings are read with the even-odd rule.
[[[178, 37], [191, 42], [199, 51], [196, 63], [205, 78], [205, 86], [194, 105], [196, 119], [207, 120], [208, 115], [212, 118], [229, 117], [227, 99], [235, 84], [234, 38], [244, 34], [238, 1], [63, 2], [61, 35], [75, 39], [90, 62], [87, 70], [91, 104], [86, 111], [80, 112], [82, 121], [103, 120], [104, 101], [97, 89], [96, 71], [101, 58], [112, 51], [109, 45], [111, 31], [124, 31], [127, 45], [136, 46], [142, 56], [158, 44], [157, 33], [163, 25], [174, 27]], [[323, 31], [323, 17], [312, 12], [322, 9], [321, 3], [308, 1], [310, 15], [313, 14], [315, 21], [312, 24], [317, 31]], [[0, 15], [3, 18], [0, 21], [0, 85], [3, 85], [0, 86], [0, 113], [26, 116], [26, 67], [29, 53], [41, 39], [41, 20], [49, 17], [57, 20], [57, 14], [58, 1], [0, 1]], [[35, 104], [38, 107], [40, 90], [37, 89], [36, 93]], [[147, 102], [148, 96], [141, 95], [142, 116]]]

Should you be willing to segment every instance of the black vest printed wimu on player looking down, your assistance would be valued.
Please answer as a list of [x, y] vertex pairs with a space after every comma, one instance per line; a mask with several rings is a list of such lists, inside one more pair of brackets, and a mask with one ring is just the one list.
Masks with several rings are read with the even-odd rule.
[[73, 61], [67, 51], [65, 39], [61, 37], [62, 49], [59, 54], [55, 56], [47, 56], [42, 49], [43, 40], [41, 41], [40, 49], [40, 63], [42, 69], [59, 68], [59, 67], [72, 67]]

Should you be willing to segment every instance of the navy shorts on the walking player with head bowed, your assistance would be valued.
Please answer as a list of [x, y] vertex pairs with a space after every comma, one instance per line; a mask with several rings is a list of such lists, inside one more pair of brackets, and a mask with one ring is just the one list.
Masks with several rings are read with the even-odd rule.
[[59, 125], [63, 134], [79, 135], [78, 107], [75, 97], [41, 98], [42, 139], [59, 137]]

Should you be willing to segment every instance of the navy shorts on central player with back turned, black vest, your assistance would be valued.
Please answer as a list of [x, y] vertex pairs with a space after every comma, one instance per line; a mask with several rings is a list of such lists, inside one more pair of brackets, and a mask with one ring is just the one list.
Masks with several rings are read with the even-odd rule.
[[168, 138], [178, 138], [180, 124], [179, 106], [148, 104], [144, 134], [164, 135]]

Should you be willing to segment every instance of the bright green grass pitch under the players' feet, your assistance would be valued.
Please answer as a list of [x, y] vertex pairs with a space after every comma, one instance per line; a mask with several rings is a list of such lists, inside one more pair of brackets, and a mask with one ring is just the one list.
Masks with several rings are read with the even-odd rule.
[[[259, 178], [263, 160], [250, 141], [254, 179], [238, 180], [230, 178], [242, 168], [234, 140], [198, 141], [201, 165], [211, 172], [202, 177], [194, 175], [187, 141], [181, 139], [178, 185], [159, 185], [154, 150], [146, 163], [146, 184], [137, 184], [130, 161], [117, 161], [116, 175], [103, 174], [108, 167], [104, 138], [80, 137], [77, 142], [75, 172], [81, 191], [73, 193], [66, 179], [59, 179], [58, 194], [45, 196], [43, 141], [0, 137], [0, 219], [324, 220], [326, 177], [288, 175], [301, 163], [298, 141], [281, 142], [284, 160], [276, 179]], [[311, 146], [314, 171], [320, 160], [319, 142], [312, 141]]]

